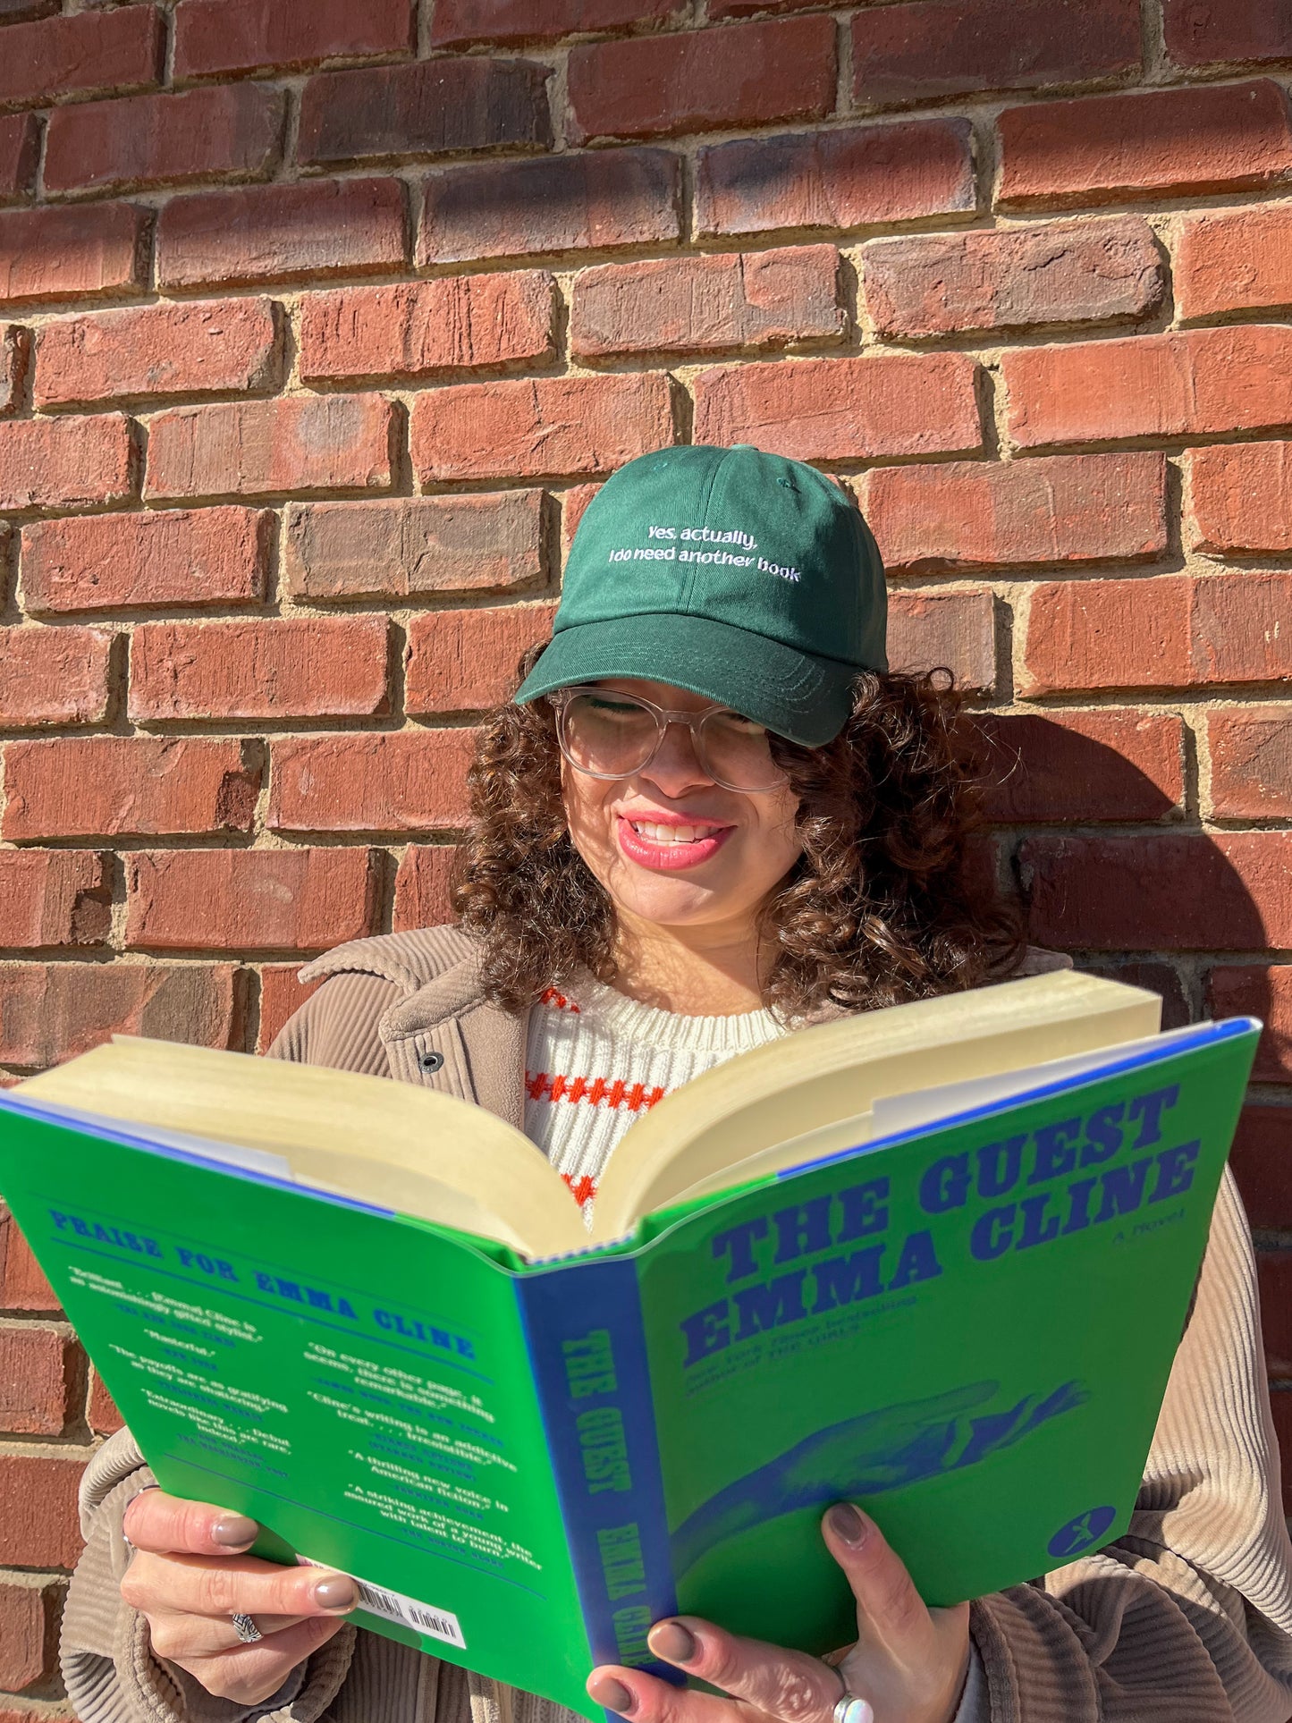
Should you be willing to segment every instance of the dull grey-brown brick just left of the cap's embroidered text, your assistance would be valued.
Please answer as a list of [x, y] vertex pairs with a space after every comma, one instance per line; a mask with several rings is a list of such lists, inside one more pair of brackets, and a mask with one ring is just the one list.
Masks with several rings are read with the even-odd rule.
[[546, 577], [543, 493], [293, 503], [284, 562], [295, 598], [413, 598], [534, 586]]

